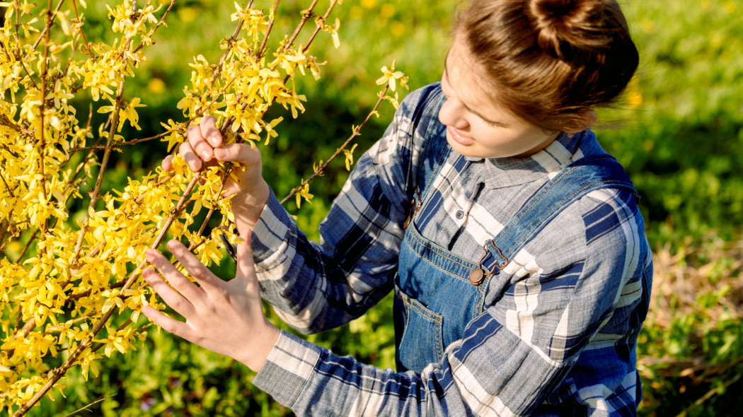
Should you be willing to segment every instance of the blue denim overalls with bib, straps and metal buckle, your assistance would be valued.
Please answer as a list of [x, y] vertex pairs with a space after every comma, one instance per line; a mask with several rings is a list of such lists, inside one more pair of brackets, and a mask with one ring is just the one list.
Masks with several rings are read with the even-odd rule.
[[[502, 295], [511, 285], [499, 271], [559, 211], [597, 188], [626, 188], [637, 194], [621, 165], [608, 154], [585, 157], [560, 171], [537, 191], [513, 219], [481, 251], [464, 259], [426, 240], [416, 222], [438, 210], [441, 194], [429, 187], [450, 153], [446, 126], [438, 122], [443, 94], [423, 100], [415, 119], [425, 131], [421, 163], [415, 175], [418, 210], [406, 227], [395, 276], [395, 359], [398, 372], [421, 372], [441, 363], [444, 349], [464, 336], [467, 324], [484, 311], [487, 292]], [[456, 165], [467, 164], [460, 157]], [[464, 168], [461, 168], [464, 169]], [[415, 200], [414, 200], [415, 204]], [[499, 297], [495, 298], [496, 300]]]

